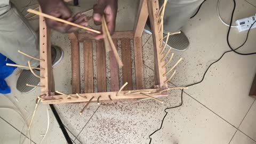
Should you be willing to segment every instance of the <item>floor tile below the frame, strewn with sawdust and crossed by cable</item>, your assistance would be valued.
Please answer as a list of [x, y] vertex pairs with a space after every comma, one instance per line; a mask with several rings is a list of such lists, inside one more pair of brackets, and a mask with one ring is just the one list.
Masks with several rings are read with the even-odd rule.
[[[180, 103], [180, 90], [170, 91], [163, 105], [153, 101], [101, 105], [79, 138], [84, 143], [148, 143], [161, 125], [164, 108]], [[167, 110], [163, 129], [152, 143], [228, 143], [235, 128], [184, 94], [184, 104]], [[221, 131], [220, 131], [221, 129]]]

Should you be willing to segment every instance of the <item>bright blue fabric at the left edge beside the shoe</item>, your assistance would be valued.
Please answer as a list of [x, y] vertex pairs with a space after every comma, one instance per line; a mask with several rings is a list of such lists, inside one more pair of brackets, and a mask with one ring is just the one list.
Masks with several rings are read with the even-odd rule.
[[[6, 66], [6, 63], [14, 63], [10, 59], [6, 59], [6, 57], [0, 53], [0, 93], [6, 94], [10, 93], [11, 89], [5, 82], [5, 78], [10, 76], [13, 70], [16, 67]], [[15, 63], [14, 63], [15, 64]]]

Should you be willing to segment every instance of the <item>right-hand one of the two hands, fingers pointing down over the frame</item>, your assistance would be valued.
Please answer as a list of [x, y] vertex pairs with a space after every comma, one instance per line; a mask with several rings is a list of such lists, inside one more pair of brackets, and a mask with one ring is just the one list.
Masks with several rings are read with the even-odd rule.
[[[110, 35], [114, 34], [116, 26], [117, 0], [98, 0], [93, 6], [93, 20], [95, 25], [100, 25], [102, 15], [105, 15]], [[95, 39], [102, 39], [103, 35], [95, 35]]]

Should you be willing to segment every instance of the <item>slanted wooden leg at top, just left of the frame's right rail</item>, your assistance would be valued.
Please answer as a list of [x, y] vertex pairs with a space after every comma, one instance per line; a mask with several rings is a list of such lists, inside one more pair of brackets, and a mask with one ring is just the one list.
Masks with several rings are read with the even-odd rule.
[[134, 27], [134, 37], [141, 37], [146, 21], [148, 19], [147, 0], [140, 0], [140, 5], [137, 14], [137, 22]]

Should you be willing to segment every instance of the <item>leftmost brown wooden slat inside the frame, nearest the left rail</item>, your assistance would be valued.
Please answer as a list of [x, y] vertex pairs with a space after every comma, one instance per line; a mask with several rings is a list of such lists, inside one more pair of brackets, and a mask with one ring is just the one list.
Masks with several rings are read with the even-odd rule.
[[70, 43], [71, 43], [72, 93], [80, 93], [79, 43], [76, 38], [71, 38]]

